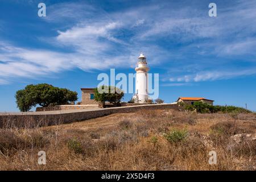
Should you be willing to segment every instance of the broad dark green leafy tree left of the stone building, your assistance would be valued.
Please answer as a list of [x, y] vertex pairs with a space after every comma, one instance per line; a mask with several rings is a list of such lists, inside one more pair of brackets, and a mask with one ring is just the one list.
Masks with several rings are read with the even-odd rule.
[[37, 104], [43, 107], [62, 105], [77, 100], [77, 92], [57, 88], [49, 84], [27, 85], [16, 92], [16, 104], [20, 111], [28, 111]]

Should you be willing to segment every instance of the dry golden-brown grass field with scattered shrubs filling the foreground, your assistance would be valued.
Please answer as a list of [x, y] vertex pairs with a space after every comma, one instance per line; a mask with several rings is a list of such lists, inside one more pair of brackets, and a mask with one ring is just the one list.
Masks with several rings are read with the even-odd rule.
[[[33, 123], [33, 129], [10, 127], [9, 121], [0, 129], [0, 169], [255, 170], [255, 140], [246, 137], [255, 136], [255, 122], [255, 114], [175, 110], [141, 110], [49, 127]], [[236, 134], [242, 134], [239, 142]], [[41, 150], [46, 165], [38, 164]], [[208, 163], [212, 150], [216, 165]]]

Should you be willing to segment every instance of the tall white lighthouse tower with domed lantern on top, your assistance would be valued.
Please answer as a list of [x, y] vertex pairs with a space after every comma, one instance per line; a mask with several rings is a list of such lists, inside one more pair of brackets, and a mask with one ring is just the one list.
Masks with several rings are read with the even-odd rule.
[[138, 63], [136, 65], [136, 90], [134, 100], [137, 103], [144, 103], [148, 100], [148, 72], [149, 68], [147, 67], [147, 59], [141, 53], [138, 57]]

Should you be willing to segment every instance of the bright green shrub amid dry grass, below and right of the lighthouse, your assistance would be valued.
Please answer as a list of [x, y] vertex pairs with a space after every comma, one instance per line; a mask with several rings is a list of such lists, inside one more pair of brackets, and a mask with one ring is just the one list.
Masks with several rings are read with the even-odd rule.
[[186, 129], [179, 130], [173, 129], [168, 133], [164, 134], [164, 138], [170, 143], [182, 142], [188, 137], [188, 131]]

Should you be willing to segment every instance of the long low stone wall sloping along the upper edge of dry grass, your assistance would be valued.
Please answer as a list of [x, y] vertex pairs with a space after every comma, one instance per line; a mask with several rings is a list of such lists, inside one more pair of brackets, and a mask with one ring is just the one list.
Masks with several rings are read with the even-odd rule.
[[49, 126], [56, 123], [72, 123], [77, 121], [84, 121], [109, 115], [113, 113], [134, 113], [138, 110], [146, 109], [178, 109], [176, 104], [154, 104], [154, 105], [139, 105], [127, 107], [112, 107], [100, 110], [77, 110], [77, 111], [46, 111], [33, 113], [16, 113], [16, 114], [2, 114], [0, 115], [0, 127], [7, 124], [18, 123], [19, 126], [26, 125], [27, 122], [34, 123], [32, 126]]

